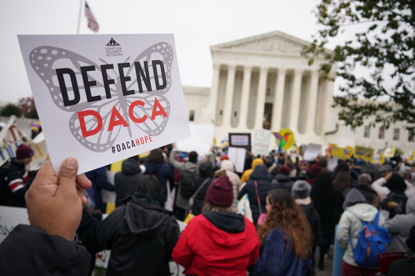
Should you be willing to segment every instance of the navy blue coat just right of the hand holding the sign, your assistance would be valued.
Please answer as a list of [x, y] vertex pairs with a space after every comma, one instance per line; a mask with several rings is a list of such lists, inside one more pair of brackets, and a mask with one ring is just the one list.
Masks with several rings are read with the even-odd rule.
[[107, 180], [107, 168], [101, 167], [85, 173], [91, 181], [92, 187], [88, 189], [90, 196], [93, 198], [95, 209], [103, 208], [103, 197], [101, 190], [114, 191], [115, 187]]

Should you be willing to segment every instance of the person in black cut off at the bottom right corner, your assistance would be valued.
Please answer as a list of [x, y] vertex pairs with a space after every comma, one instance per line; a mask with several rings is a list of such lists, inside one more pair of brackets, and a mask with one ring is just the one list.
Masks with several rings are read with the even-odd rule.
[[409, 232], [409, 238], [405, 241], [408, 251], [405, 258], [398, 259], [389, 267], [388, 276], [413, 276], [415, 271], [415, 226]]

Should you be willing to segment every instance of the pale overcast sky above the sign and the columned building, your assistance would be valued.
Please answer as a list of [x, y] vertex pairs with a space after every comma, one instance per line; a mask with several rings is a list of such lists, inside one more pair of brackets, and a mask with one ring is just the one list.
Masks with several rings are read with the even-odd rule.
[[[32, 94], [17, 34], [76, 34], [80, 4], [2, 0], [0, 100], [16, 102]], [[100, 25], [98, 34], [175, 34], [181, 81], [192, 86], [211, 85], [212, 45], [271, 31], [311, 41], [318, 29], [315, 0], [88, 0], [88, 5]], [[80, 34], [93, 34], [83, 13]]]

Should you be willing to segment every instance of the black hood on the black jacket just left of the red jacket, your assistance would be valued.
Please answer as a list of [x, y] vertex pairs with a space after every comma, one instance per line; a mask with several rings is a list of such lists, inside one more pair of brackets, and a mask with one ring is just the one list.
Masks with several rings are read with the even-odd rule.
[[144, 237], [160, 235], [166, 229], [171, 212], [132, 196], [125, 206], [124, 220], [130, 233]]

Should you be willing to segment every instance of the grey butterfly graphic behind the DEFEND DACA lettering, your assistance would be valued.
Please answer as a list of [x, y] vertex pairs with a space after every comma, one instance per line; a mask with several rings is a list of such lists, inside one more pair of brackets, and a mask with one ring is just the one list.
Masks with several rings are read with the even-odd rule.
[[[130, 60], [130, 56], [126, 58], [125, 62]], [[130, 67], [125, 68], [125, 77], [130, 77], [131, 81], [125, 82], [127, 90], [134, 89], [135, 94], [129, 96], [123, 96], [122, 94], [122, 87], [120, 82], [120, 76], [117, 72], [112, 70], [106, 70], [108, 74], [108, 79], [114, 79], [115, 84], [110, 84], [110, 98], [105, 96], [105, 88], [104, 85], [98, 81], [98, 79], [102, 79], [102, 73], [100, 65], [96, 64], [95, 62], [85, 58], [82, 55], [79, 55], [73, 51], [57, 48], [54, 46], [39, 46], [34, 48], [29, 54], [30, 64], [33, 67], [33, 70], [36, 74], [40, 77], [40, 79], [44, 82], [44, 84], [48, 88], [48, 93], [51, 96], [55, 106], [60, 108], [63, 111], [71, 112], [71, 118], [68, 122], [68, 129], [75, 137], [75, 139], [85, 148], [90, 149], [91, 151], [95, 152], [105, 152], [114, 144], [115, 140], [117, 139], [118, 134], [121, 131], [125, 131], [124, 128], [127, 128], [129, 137], [132, 138], [132, 128], [140, 128], [146, 134], [152, 136], [160, 135], [166, 128], [168, 122], [168, 114], [170, 113], [170, 103], [166, 96], [169, 89], [171, 88], [171, 67], [173, 66], [173, 49], [172, 46], [166, 42], [159, 42], [156, 43], [146, 50], [144, 50], [141, 54], [137, 56], [134, 60], [130, 62]], [[108, 64], [105, 60], [99, 59], [102, 64]], [[144, 61], [147, 62], [149, 67], [149, 77], [151, 82], [151, 87], [154, 89], [155, 86], [155, 78], [161, 79], [162, 76], [159, 74], [159, 70], [157, 70], [158, 75], [154, 75], [153, 72], [153, 64], [152, 60], [161, 60], [164, 65], [164, 72], [166, 74], [166, 87], [161, 90], [153, 90], [148, 91], [142, 79], [137, 80], [137, 75], [135, 73], [134, 62], [140, 62], [143, 64]], [[81, 76], [81, 66], [88, 66], [93, 65], [95, 67], [95, 71], [88, 72], [88, 80], [89, 81], [96, 81], [96, 86], [91, 86], [91, 94], [92, 95], [100, 95], [101, 100], [88, 102], [86, 101], [85, 96], [85, 87], [83, 86], [83, 79]], [[154, 65], [156, 66], [156, 65]], [[114, 64], [114, 67], [117, 68], [117, 64]], [[75, 72], [76, 79], [78, 82], [79, 94], [81, 95], [81, 100], [78, 104], [72, 106], [64, 106], [62, 94], [58, 82], [58, 77], [56, 75], [57, 68], [70, 68]], [[66, 89], [68, 94], [71, 95], [71, 91], [73, 91], [73, 87], [71, 84], [71, 80], [68, 76], [65, 76], [65, 83]], [[68, 77], [68, 79], [66, 79]], [[142, 91], [143, 93], [139, 93], [139, 82], [142, 84]], [[128, 107], [133, 101], [143, 101], [145, 104], [144, 106], [136, 106], [134, 107], [134, 115], [137, 118], [142, 118], [144, 115], [147, 115], [148, 118], [151, 118], [151, 112], [153, 110], [154, 101], [157, 99], [163, 109], [166, 111], [167, 116], [156, 116], [154, 120], [146, 120], [142, 123], [136, 123], [130, 120], [128, 116]], [[113, 128], [112, 131], [107, 131], [107, 125], [110, 121], [110, 115], [113, 106], [119, 111], [125, 121], [128, 123], [127, 127], [123, 127], [122, 125], [117, 125]], [[103, 127], [97, 134], [82, 137], [81, 134], [81, 127], [78, 118], [78, 112], [83, 110], [94, 110], [100, 113], [102, 120], [103, 120]], [[98, 121], [95, 117], [92, 116], [91, 119], [88, 120], [88, 117], [85, 118], [85, 125], [86, 130], [93, 130], [98, 124]], [[64, 135], [63, 135], [64, 137]], [[68, 138], [63, 138], [64, 141]]]

